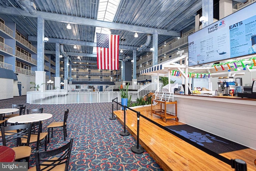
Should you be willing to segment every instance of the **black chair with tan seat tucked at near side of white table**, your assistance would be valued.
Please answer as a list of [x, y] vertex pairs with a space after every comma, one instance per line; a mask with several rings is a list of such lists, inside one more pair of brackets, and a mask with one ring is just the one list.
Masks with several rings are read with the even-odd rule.
[[[36, 143], [36, 150], [44, 144], [44, 151], [47, 149], [47, 132], [42, 132], [42, 121], [32, 123], [32, 130], [30, 134], [29, 144]], [[25, 144], [26, 139], [22, 138], [21, 143]]]

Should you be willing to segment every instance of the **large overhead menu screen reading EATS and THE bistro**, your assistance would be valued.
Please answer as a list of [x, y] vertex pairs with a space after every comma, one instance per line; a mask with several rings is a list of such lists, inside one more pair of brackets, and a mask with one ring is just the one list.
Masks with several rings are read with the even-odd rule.
[[256, 3], [188, 36], [188, 66], [256, 53]]

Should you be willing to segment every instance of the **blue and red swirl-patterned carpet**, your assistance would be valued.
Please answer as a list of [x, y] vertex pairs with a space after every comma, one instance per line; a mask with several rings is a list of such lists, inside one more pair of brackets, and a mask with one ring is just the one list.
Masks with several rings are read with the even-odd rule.
[[[63, 139], [62, 132], [54, 132], [47, 149], [51, 150], [66, 144], [74, 138], [69, 170], [72, 171], [162, 171], [162, 168], [145, 151], [135, 154], [131, 147], [136, 145], [134, 137], [121, 136], [123, 126], [117, 119], [110, 120], [112, 103], [86, 103], [66, 105], [30, 105], [26, 96], [0, 100], [0, 108], [11, 108], [12, 104], [24, 104], [27, 109], [44, 108], [44, 113], [53, 117], [43, 123], [43, 131], [52, 121], [63, 121], [64, 111], [69, 109], [68, 137]], [[40, 151], [44, 146], [40, 147]], [[35, 165], [35, 149], [32, 150], [29, 167]]]

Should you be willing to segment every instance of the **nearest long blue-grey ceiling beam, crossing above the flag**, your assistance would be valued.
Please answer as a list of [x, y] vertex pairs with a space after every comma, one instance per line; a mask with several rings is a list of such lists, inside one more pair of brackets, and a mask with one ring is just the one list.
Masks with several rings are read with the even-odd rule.
[[65, 22], [65, 23], [72, 23], [72, 24], [79, 24], [79, 25], [104, 27], [104, 28], [110, 28], [110, 29], [114, 29], [114, 30], [125, 30], [128, 32], [139, 32], [139, 33], [146, 33], [146, 34], [154, 34], [154, 32], [158, 32], [159, 35], [181, 37], [180, 32], [168, 31], [165, 29], [134, 26], [134, 25], [129, 25], [129, 24], [114, 23], [114, 22], [106, 22], [106, 21], [94, 20], [94, 19], [89, 19], [89, 18], [67, 16], [67, 15], [63, 15], [63, 14], [55, 14], [55, 13], [41, 12], [41, 11], [37, 11], [36, 15], [31, 15], [22, 9], [18, 9], [18, 8], [15, 9], [13, 7], [0, 6], [0, 13], [14, 15], [14, 16], [22, 15], [25, 17], [43, 18], [44, 20], [51, 20], [51, 21], [56, 21], [56, 22]]

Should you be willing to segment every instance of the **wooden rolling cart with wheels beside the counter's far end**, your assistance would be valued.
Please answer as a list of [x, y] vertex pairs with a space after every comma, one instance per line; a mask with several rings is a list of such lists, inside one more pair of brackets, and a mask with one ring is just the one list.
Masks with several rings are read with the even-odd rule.
[[[153, 103], [157, 104], [160, 103], [160, 109], [153, 109]], [[164, 109], [162, 108], [162, 104], [164, 104]], [[172, 104], [175, 105], [175, 113], [168, 112], [166, 110], [166, 105]], [[176, 121], [179, 121], [177, 117], [177, 101], [174, 101], [174, 94], [173, 93], [166, 93], [166, 92], [158, 92], [155, 94], [155, 99], [151, 100], [151, 116], [152, 113], [155, 115], [163, 117], [163, 121], [166, 122], [166, 119], [175, 118]]]

